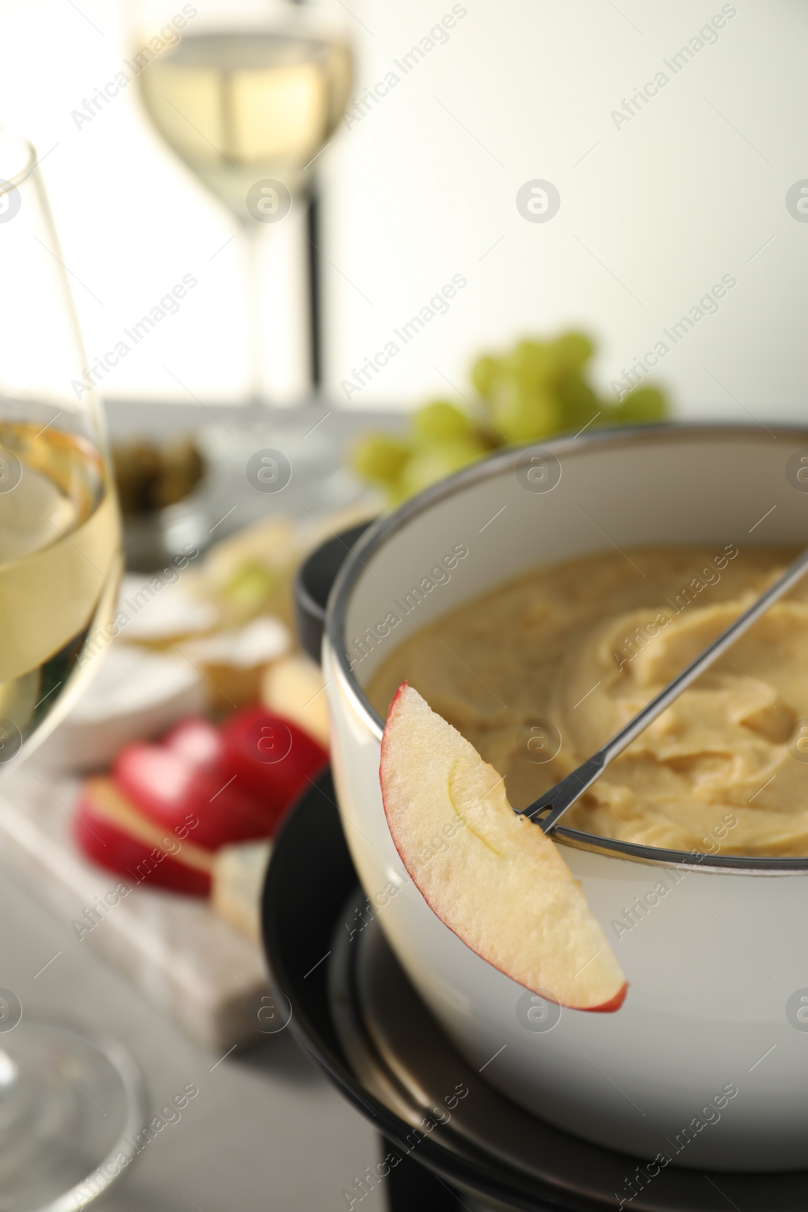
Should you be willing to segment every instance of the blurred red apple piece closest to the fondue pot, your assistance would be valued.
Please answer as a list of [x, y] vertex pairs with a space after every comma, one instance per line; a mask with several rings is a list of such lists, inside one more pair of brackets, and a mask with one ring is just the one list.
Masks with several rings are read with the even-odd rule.
[[228, 770], [260, 801], [275, 828], [328, 761], [313, 737], [262, 707], [236, 711], [222, 737]]

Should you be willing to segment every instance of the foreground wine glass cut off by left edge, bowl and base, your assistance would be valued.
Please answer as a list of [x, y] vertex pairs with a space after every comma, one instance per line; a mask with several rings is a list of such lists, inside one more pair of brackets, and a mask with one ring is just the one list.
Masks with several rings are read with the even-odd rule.
[[[0, 131], [0, 770], [97, 661], [120, 576], [115, 492], [36, 153]], [[133, 1156], [144, 1104], [116, 1042], [0, 989], [0, 1207], [75, 1208]]]

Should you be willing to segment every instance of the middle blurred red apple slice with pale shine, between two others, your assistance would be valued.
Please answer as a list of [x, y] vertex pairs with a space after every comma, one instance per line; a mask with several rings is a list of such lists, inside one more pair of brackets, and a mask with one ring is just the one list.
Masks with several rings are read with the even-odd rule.
[[144, 816], [168, 830], [182, 827], [189, 813], [197, 817], [194, 844], [202, 850], [268, 837], [273, 831], [271, 814], [240, 785], [237, 776], [218, 766], [195, 767], [176, 749], [126, 745], [111, 777]]

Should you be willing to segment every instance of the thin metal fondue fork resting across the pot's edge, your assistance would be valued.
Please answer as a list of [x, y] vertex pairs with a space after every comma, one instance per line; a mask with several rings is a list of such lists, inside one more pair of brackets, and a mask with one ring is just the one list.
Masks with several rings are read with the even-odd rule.
[[615, 732], [611, 741], [588, 758], [578, 770], [574, 770], [566, 778], [562, 778], [560, 783], [556, 783], [549, 791], [540, 795], [538, 800], [529, 804], [526, 808], [521, 811], [514, 808], [517, 816], [528, 817], [535, 824], [540, 825], [545, 834], [552, 834], [556, 829], [558, 821], [565, 814], [567, 808], [571, 808], [577, 800], [586, 791], [592, 783], [601, 777], [609, 762], [614, 761], [618, 754], [621, 754], [632, 741], [635, 741], [641, 732], [648, 727], [659, 715], [663, 714], [665, 708], [670, 707], [682, 691], [695, 681], [699, 674], [709, 669], [714, 661], [717, 661], [722, 653], [729, 648], [739, 636], [746, 631], [752, 623], [757, 622], [761, 614], [775, 601], [783, 598], [784, 594], [789, 591], [796, 583], [804, 576], [808, 571], [808, 548], [800, 555], [793, 564], [789, 565], [783, 576], [774, 582], [773, 585], [761, 594], [757, 601], [752, 602], [749, 610], [745, 610], [743, 614], [739, 614], [734, 623], [721, 633], [717, 640], [707, 641], [709, 647], [701, 652], [695, 661], [692, 661], [681, 674], [677, 674], [672, 681], [660, 690], [659, 694], [654, 696], [641, 711], [629, 720], [619, 732]]

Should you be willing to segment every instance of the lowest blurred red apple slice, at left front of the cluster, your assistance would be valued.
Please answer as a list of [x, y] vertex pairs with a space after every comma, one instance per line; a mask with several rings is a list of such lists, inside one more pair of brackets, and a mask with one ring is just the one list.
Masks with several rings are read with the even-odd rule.
[[170, 888], [191, 897], [207, 897], [211, 893], [210, 875], [185, 867], [171, 854], [156, 858], [155, 850], [147, 842], [131, 837], [98, 814], [86, 795], [80, 797], [76, 806], [73, 835], [91, 862], [121, 875], [131, 887], [143, 884], [147, 888]]

